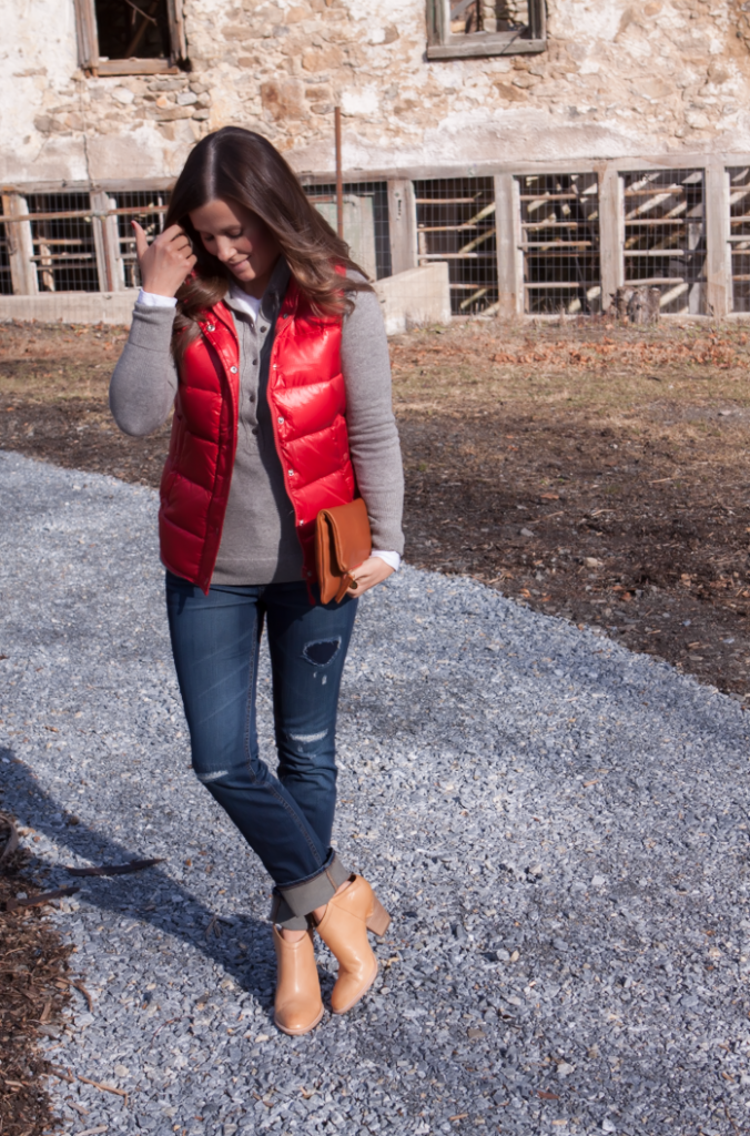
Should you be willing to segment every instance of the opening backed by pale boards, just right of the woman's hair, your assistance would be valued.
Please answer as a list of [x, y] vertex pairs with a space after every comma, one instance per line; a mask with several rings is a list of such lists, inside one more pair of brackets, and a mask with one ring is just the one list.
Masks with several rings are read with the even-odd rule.
[[[336, 232], [335, 185], [303, 185], [308, 198]], [[388, 183], [349, 182], [343, 186], [343, 236], [351, 259], [370, 277], [391, 275]]]

